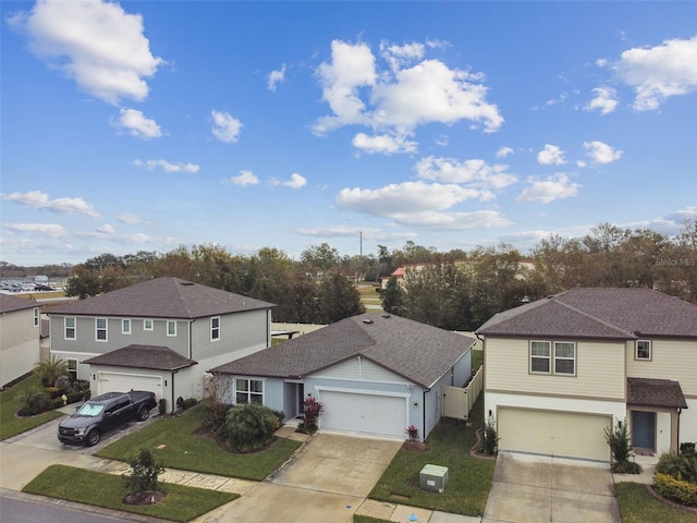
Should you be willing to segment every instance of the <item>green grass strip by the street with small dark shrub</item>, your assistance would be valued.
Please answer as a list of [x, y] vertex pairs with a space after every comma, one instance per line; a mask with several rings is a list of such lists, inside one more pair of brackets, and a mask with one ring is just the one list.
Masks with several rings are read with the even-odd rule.
[[32, 479], [22, 491], [171, 521], [191, 521], [240, 497], [237, 494], [169, 483], [161, 483], [160, 489], [167, 492], [167, 497], [157, 504], [124, 504], [122, 500], [129, 491], [124, 488], [121, 476], [51, 465]]

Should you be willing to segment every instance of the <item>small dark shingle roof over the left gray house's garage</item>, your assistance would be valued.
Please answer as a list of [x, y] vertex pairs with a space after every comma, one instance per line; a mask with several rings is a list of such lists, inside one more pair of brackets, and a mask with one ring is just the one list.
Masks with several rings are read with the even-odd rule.
[[149, 368], [154, 370], [179, 370], [197, 365], [198, 362], [178, 354], [169, 346], [129, 345], [85, 360], [89, 365], [112, 367]]

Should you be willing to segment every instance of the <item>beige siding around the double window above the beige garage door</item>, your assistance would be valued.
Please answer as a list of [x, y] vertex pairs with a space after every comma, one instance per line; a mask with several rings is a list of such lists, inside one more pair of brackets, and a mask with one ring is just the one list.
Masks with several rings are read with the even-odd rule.
[[[624, 343], [555, 339], [576, 342], [576, 375], [557, 376], [529, 372], [529, 340], [487, 338], [485, 386], [487, 390], [519, 393], [624, 399]], [[551, 365], [553, 366], [553, 357]]]

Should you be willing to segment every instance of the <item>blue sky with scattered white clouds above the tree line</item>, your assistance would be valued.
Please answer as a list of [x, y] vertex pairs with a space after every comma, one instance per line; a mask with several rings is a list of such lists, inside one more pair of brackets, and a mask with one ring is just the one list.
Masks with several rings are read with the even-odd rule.
[[0, 9], [4, 262], [697, 217], [696, 2]]

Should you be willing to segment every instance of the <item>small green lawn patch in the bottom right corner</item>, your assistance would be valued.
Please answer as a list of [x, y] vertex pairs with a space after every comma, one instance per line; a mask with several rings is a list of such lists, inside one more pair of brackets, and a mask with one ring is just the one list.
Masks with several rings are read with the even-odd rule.
[[617, 483], [614, 486], [623, 523], [697, 523], [697, 513], [665, 504], [647, 490], [645, 485]]

